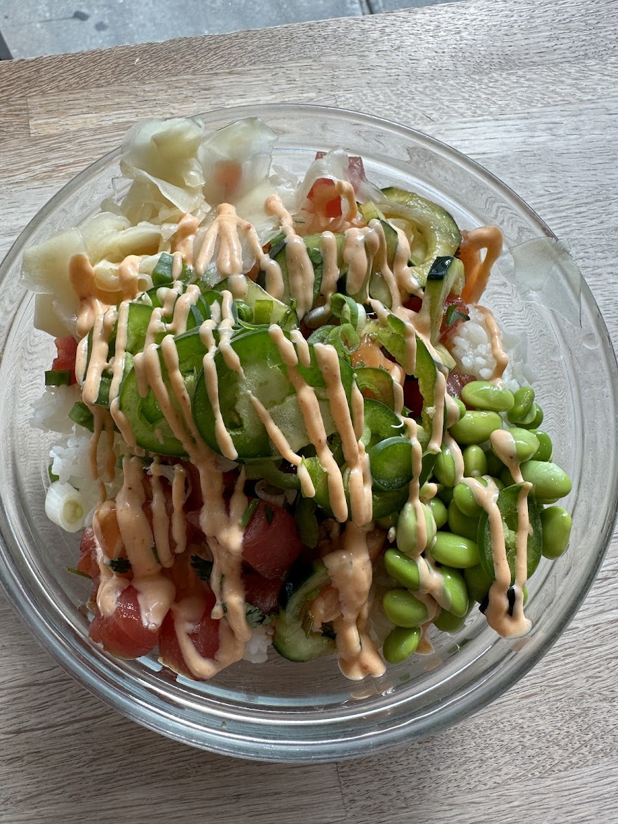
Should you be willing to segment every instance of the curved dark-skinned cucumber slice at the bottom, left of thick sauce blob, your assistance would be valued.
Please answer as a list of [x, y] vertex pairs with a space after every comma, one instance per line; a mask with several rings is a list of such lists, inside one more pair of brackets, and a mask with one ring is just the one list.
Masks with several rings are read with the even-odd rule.
[[299, 583], [288, 582], [283, 588], [283, 605], [275, 624], [273, 646], [288, 661], [312, 661], [329, 655], [335, 642], [311, 629], [311, 601], [330, 583], [322, 561], [316, 561]]

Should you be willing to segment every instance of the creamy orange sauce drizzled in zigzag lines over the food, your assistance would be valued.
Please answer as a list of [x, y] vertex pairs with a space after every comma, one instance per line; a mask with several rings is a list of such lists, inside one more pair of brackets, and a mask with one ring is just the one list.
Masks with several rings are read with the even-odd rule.
[[[305, 241], [296, 231], [293, 217], [283, 207], [279, 196], [272, 195], [266, 201], [267, 213], [278, 218], [285, 236], [289, 294], [297, 303], [299, 319], [310, 313], [307, 319], [309, 325], [319, 326], [330, 317], [330, 298], [337, 288], [342, 274], [341, 269], [344, 269], [346, 274], [347, 293], [356, 295], [361, 302], [366, 302], [368, 299], [368, 282], [372, 271], [377, 271], [382, 275], [391, 297], [391, 311], [405, 324], [405, 364], [400, 367], [398, 364], [391, 363], [370, 339], [363, 340], [353, 358], [356, 358], [356, 362], [363, 360], [367, 366], [384, 366], [388, 370], [393, 379], [395, 408], [400, 414], [404, 403], [405, 377], [406, 374], [412, 374], [416, 366], [417, 336], [423, 339], [436, 361], [440, 360], [438, 353], [429, 342], [428, 328], [425, 328], [427, 324], [424, 319], [402, 305], [402, 300], [407, 297], [407, 294], [419, 292], [414, 273], [408, 265], [410, 243], [405, 233], [396, 229], [398, 243], [394, 260], [389, 265], [386, 237], [381, 222], [372, 220], [368, 226], [361, 225], [362, 222], [357, 215], [353, 187], [339, 182], [337, 192], [342, 198], [344, 208], [341, 219], [331, 222], [330, 229], [344, 232], [343, 245], [339, 246], [337, 236], [333, 231], [322, 233], [320, 242], [323, 259], [322, 278], [320, 297], [315, 308], [312, 308], [315, 286], [314, 269]], [[481, 284], [484, 284], [484, 279], [486, 281], [489, 268], [495, 257], [499, 255], [497, 235], [489, 230], [476, 235], [471, 232], [462, 244], [461, 257], [466, 266], [466, 287], [470, 286], [472, 297], [475, 297], [479, 289], [482, 292], [482, 288], [485, 288], [485, 285], [481, 288]], [[500, 248], [501, 242], [500, 239]], [[144, 625], [149, 629], [156, 629], [171, 609], [178, 643], [187, 667], [194, 677], [209, 678], [223, 667], [239, 660], [243, 654], [244, 644], [250, 637], [241, 582], [243, 535], [241, 517], [247, 505], [244, 493], [245, 472], [241, 470], [238, 476], [232, 498], [229, 500], [229, 512], [227, 512], [223, 498], [222, 472], [217, 467], [217, 456], [203, 442], [192, 419], [191, 399], [180, 373], [178, 353], [173, 337], [186, 330], [190, 309], [199, 300], [200, 289], [197, 285], [184, 288], [177, 279], [182, 271], [183, 260], [189, 265], [194, 265], [196, 274], [200, 278], [206, 275], [207, 278], [229, 277], [230, 279], [229, 291], [222, 293], [220, 309], [217, 305], [213, 306], [212, 320], [204, 322], [199, 330], [199, 336], [206, 349], [203, 358], [204, 378], [208, 399], [213, 407], [218, 447], [222, 455], [232, 461], [236, 459], [237, 452], [224, 424], [219, 406], [215, 357], [220, 352], [227, 367], [235, 371], [241, 380], [244, 378], [240, 360], [232, 347], [234, 327], [232, 301], [235, 297], [246, 296], [244, 273], [253, 265], [259, 265], [265, 273], [266, 289], [275, 298], [283, 297], [285, 283], [281, 267], [275, 260], [271, 260], [262, 248], [255, 227], [240, 218], [231, 204], [219, 204], [216, 215], [208, 225], [200, 226], [198, 218], [193, 215], [183, 216], [178, 225], [173, 248], [172, 277], [176, 279], [176, 283], [157, 292], [162, 307], [152, 311], [147, 327], [146, 344], [143, 352], [138, 353], [133, 359], [133, 364], [138, 391], [142, 396], [146, 396], [147, 392], [152, 390], [171, 432], [180, 441], [190, 462], [199, 471], [199, 484], [204, 499], [204, 505], [199, 513], [199, 523], [213, 555], [211, 586], [216, 598], [213, 618], [220, 620], [219, 648], [214, 659], [203, 658], [191, 638], [194, 627], [201, 617], [203, 602], [199, 598], [186, 597], [176, 603], [175, 588], [170, 578], [162, 574], [164, 569], [169, 569], [174, 564], [175, 555], [184, 552], [187, 546], [184, 505], [188, 479], [185, 469], [180, 465], [175, 465], [173, 470], [170, 466], [166, 466], [166, 473], [173, 472], [172, 480], [169, 482], [168, 475], [165, 477], [163, 475], [164, 469], [160, 461], [157, 459], [152, 461], [149, 469], [152, 489], [152, 500], [149, 505], [152, 510], [152, 519], [149, 521], [144, 512], [146, 498], [143, 488], [143, 461], [138, 456], [130, 454], [125, 456], [124, 484], [116, 496], [115, 508], [119, 536], [133, 570], [131, 583], [138, 591], [138, 602], [142, 609]], [[487, 254], [485, 260], [480, 261], [479, 250], [482, 248], [487, 249]], [[341, 269], [339, 269], [339, 254], [343, 263]], [[83, 399], [95, 414], [91, 464], [93, 474], [101, 475], [98, 443], [102, 433], [106, 433], [107, 452], [105, 461], [103, 461], [105, 465], [103, 474], [108, 479], [113, 475], [114, 468], [110, 463], [110, 456], [114, 456], [113, 424], [119, 428], [129, 446], [133, 447], [133, 452], [138, 452], [129, 420], [119, 409], [118, 396], [126, 359], [130, 301], [147, 285], [143, 276], [139, 274], [139, 264], [140, 259], [136, 255], [129, 255], [125, 258], [118, 267], [118, 283], [114, 284], [117, 288], [112, 290], [103, 289], [101, 284], [97, 283], [96, 272], [85, 255], [75, 255], [70, 266], [71, 283], [80, 299], [79, 333], [83, 336], [87, 334], [87, 331], [92, 330], [90, 358], [87, 354], [87, 341], [83, 339], [79, 347], [76, 366], [77, 374], [82, 381]], [[468, 278], [469, 270], [472, 272], [470, 278]], [[469, 299], [471, 300], [472, 297]], [[378, 319], [384, 322], [388, 316], [386, 308], [377, 301], [372, 300], [370, 303]], [[496, 370], [492, 377], [499, 379], [506, 366], [506, 355], [501, 346], [499, 329], [489, 311], [483, 307], [479, 309], [484, 313], [492, 340], [492, 352], [496, 360]], [[110, 335], [115, 327], [115, 356], [108, 362]], [[325, 381], [330, 417], [339, 432], [344, 452], [346, 464], [344, 480], [344, 471], [337, 465], [328, 446], [321, 402], [316, 396], [315, 389], [303, 379], [298, 369], [299, 364], [305, 367], [311, 364], [311, 351], [306, 339], [299, 330], [293, 330], [288, 336], [277, 325], [270, 326], [269, 335], [277, 345], [286, 365], [288, 379], [296, 392], [309, 442], [316, 447], [316, 454], [327, 474], [330, 504], [335, 519], [342, 523], [345, 522], [343, 534], [333, 543], [333, 549], [324, 555], [331, 587], [329, 597], [324, 596], [322, 615], [328, 615], [330, 620], [333, 620], [339, 667], [342, 672], [352, 679], [360, 679], [366, 675], [378, 677], [382, 675], [385, 667], [367, 631], [368, 614], [372, 602], [371, 536], [373, 524], [372, 478], [368, 455], [361, 440], [364, 417], [363, 396], [354, 384], [349, 402], [341, 381], [339, 357], [335, 348], [326, 344], [315, 344], [313, 352], [317, 367]], [[162, 341], [157, 345], [156, 341], [161, 337]], [[165, 378], [162, 364], [165, 369]], [[101, 377], [105, 370], [111, 372], [110, 414], [96, 406]], [[274, 447], [283, 458], [297, 467], [303, 494], [309, 497], [314, 496], [316, 490], [306, 467], [303, 466], [302, 457], [293, 452], [265, 405], [250, 392], [249, 397]], [[445, 415], [447, 425], [451, 424], [458, 415], [456, 404], [447, 396], [446, 375], [440, 366], [437, 370], [434, 397], [429, 452], [438, 452], [440, 449]], [[405, 419], [404, 423], [413, 447], [413, 480], [410, 483], [408, 503], [414, 507], [419, 522], [415, 553], [421, 578], [418, 597], [428, 608], [429, 624], [440, 608], [448, 609], [449, 604], [442, 576], [435, 569], [432, 559], [421, 555], [427, 548], [429, 538], [419, 489], [423, 449], [419, 443], [418, 424], [413, 419]], [[450, 436], [447, 435], [446, 438], [456, 459], [456, 474], [460, 480], [463, 476], [461, 450], [452, 442]], [[508, 452], [508, 444], [500, 441], [497, 451], [499, 449], [505, 453]], [[501, 634], [517, 634], [525, 624], [522, 612], [522, 588], [526, 579], [525, 552], [529, 527], [525, 496], [522, 496], [521, 529], [517, 531], [516, 604], [513, 617], [506, 616], [505, 618], [503, 606], [510, 584], [510, 573], [508, 573], [508, 583], [505, 585], [508, 563], [506, 563], [503, 534], [502, 554], [500, 550], [499, 531], [502, 531], [502, 525], [500, 520], [498, 526], [495, 517], [497, 507], [493, 497], [494, 490], [489, 487], [485, 489], [477, 484], [482, 490], [479, 491], [474, 485], [477, 482], [472, 479], [466, 482], [471, 485], [477, 500], [480, 503], [482, 501], [481, 505], [487, 509], [492, 525], [492, 536], [495, 531], [498, 541], [494, 544], [498, 547], [495, 552], [496, 582], [492, 587], [493, 594], [490, 592], [489, 597], [489, 623]], [[170, 494], [171, 514], [168, 512]], [[435, 489], [433, 489], [433, 494], [435, 494]], [[101, 517], [102, 514], [101, 511]], [[115, 609], [119, 594], [128, 585], [128, 579], [114, 574], [109, 565], [105, 563], [105, 554], [101, 550], [101, 541], [103, 541], [101, 522], [97, 514], [93, 528], [100, 544], [98, 551], [100, 553], [101, 586], [97, 592], [97, 606], [101, 615], [109, 616]], [[504, 570], [505, 563], [507, 572]], [[423, 640], [419, 651], [427, 652], [431, 648], [427, 636], [428, 624], [423, 627]]]

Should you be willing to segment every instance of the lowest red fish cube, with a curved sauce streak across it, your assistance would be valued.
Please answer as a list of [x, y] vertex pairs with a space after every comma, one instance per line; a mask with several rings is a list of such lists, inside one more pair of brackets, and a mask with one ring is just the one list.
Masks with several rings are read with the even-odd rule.
[[174, 670], [180, 672], [182, 675], [194, 678], [195, 676], [190, 672], [189, 667], [185, 662], [185, 657], [180, 649], [178, 643], [178, 636], [176, 635], [176, 626], [174, 625], [175, 611], [179, 608], [189, 608], [189, 611], [197, 615], [197, 620], [194, 623], [194, 629], [190, 632], [189, 637], [196, 652], [202, 658], [214, 658], [219, 648], [219, 625], [217, 619], [211, 618], [211, 612], [215, 605], [215, 597], [210, 588], [205, 588], [201, 597], [192, 597], [179, 602], [179, 604], [171, 607], [161, 625], [161, 633], [159, 634], [159, 657], [162, 662]]

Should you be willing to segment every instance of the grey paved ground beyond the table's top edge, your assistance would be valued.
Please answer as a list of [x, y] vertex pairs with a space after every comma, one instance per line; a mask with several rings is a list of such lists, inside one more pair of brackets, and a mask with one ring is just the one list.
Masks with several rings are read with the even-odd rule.
[[0, 59], [219, 35], [448, 0], [0, 0]]

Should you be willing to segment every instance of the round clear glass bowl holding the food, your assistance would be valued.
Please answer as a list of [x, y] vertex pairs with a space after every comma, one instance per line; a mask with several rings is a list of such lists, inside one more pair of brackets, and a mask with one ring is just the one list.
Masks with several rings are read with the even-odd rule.
[[[316, 149], [363, 157], [379, 185], [402, 185], [446, 207], [462, 228], [498, 224], [507, 252], [484, 299], [503, 329], [527, 342], [527, 365], [545, 410], [555, 460], [574, 481], [564, 504], [573, 536], [562, 558], [543, 560], [530, 582], [524, 639], [499, 638], [478, 610], [435, 653], [386, 675], [347, 681], [335, 658], [240, 662], [207, 683], [161, 672], [156, 658], [120, 661], [88, 638], [89, 586], [68, 573], [78, 537], [44, 514], [52, 434], [30, 428], [54, 350], [33, 323], [34, 300], [18, 283], [21, 253], [118, 197], [119, 152], [94, 163], [49, 201], [2, 263], [0, 291], [0, 576], [14, 606], [56, 660], [129, 718], [211, 751], [263, 761], [329, 761], [427, 736], [507, 690], [550, 648], [583, 600], [616, 513], [618, 368], [605, 324], [573, 261], [540, 218], [487, 171], [451, 148], [367, 115], [316, 106], [267, 105], [202, 115], [215, 129], [259, 115], [279, 133], [275, 162], [304, 171]], [[553, 308], [550, 308], [553, 307]], [[580, 316], [580, 319], [578, 319]], [[602, 456], [602, 460], [600, 460]]]

